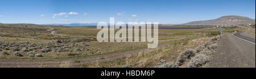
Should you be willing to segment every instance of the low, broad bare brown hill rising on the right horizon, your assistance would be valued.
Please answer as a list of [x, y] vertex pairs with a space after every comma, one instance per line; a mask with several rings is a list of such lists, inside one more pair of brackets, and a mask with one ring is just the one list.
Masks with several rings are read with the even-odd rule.
[[238, 25], [255, 23], [255, 19], [244, 16], [222, 16], [218, 19], [205, 21], [192, 21], [180, 25]]

